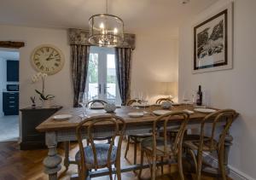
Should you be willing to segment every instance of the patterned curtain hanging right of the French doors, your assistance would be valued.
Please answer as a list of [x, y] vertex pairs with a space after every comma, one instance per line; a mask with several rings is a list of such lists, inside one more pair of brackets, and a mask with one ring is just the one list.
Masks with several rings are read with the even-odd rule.
[[122, 105], [130, 99], [131, 85], [131, 52], [130, 48], [116, 48], [116, 75]]

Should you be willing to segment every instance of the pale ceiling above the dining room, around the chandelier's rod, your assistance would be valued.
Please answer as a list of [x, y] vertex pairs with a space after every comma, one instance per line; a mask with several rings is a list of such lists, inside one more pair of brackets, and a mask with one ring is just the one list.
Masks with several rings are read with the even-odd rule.
[[[108, 0], [108, 13], [125, 21], [125, 32], [170, 31], [218, 0]], [[105, 13], [105, 0], [0, 0], [0, 24], [88, 28]]]

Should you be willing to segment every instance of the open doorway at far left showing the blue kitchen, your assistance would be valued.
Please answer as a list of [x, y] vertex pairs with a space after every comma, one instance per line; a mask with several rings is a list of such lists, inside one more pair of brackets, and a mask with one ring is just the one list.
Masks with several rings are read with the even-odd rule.
[[20, 137], [19, 64], [17, 49], [0, 49], [0, 142]]

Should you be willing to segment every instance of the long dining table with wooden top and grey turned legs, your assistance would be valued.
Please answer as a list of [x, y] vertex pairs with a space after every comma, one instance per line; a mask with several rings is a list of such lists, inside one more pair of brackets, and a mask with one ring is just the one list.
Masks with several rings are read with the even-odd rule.
[[[152, 130], [152, 125], [154, 119], [157, 118], [157, 115], [154, 115], [153, 111], [161, 109], [159, 106], [150, 106], [150, 107], [141, 107], [137, 109], [136, 107], [119, 107], [115, 110], [114, 114], [120, 116], [121, 118], [125, 119], [126, 129], [125, 135], [134, 135], [134, 134], [143, 134], [148, 133], [148, 131]], [[184, 109], [194, 110], [192, 105], [188, 104], [180, 104], [177, 106], [172, 106], [169, 110], [172, 111], [183, 111]], [[131, 112], [147, 112], [140, 118], [131, 118], [129, 117], [128, 113]], [[79, 122], [81, 122], [84, 118], [81, 118], [83, 114], [86, 113], [86, 117], [106, 114], [104, 109], [84, 109], [84, 107], [70, 107], [70, 108], [63, 108], [59, 110], [57, 113], [46, 119], [42, 124], [38, 125], [37, 130], [41, 132], [45, 132], [45, 143], [49, 148], [49, 153], [47, 157], [44, 159], [44, 172], [49, 175], [50, 180], [57, 179], [57, 172], [61, 170], [61, 156], [57, 154], [57, 143], [64, 142], [65, 144], [65, 158], [64, 158], [64, 165], [68, 168], [68, 165], [71, 163], [76, 163], [74, 160], [70, 160], [69, 154], [69, 142], [76, 141], [76, 133], [75, 129]], [[56, 121], [53, 117], [57, 114], [71, 114], [72, 118], [65, 120], [65, 121]], [[191, 113], [189, 116], [189, 124], [188, 129], [199, 128], [201, 125], [201, 120], [204, 119], [206, 113], [198, 113], [194, 112]], [[171, 127], [177, 127], [180, 125], [181, 119], [174, 118], [171, 121]], [[207, 122], [211, 125], [212, 121], [210, 120]], [[111, 129], [108, 128], [108, 125], [102, 125], [102, 128], [97, 128], [95, 132], [95, 137], [99, 136], [109, 136], [111, 135]], [[84, 138], [86, 138], [86, 132], [84, 132]], [[229, 152], [229, 148], [231, 145], [233, 138], [232, 136], [227, 136], [225, 141], [225, 150], [226, 154]], [[228, 162], [228, 155], [225, 158], [225, 165]], [[134, 171], [139, 169], [140, 165], [127, 165], [125, 167], [121, 167], [121, 171]], [[148, 165], [144, 165], [143, 168], [147, 168]], [[90, 177], [97, 177], [107, 174], [107, 170], [103, 171], [93, 171], [90, 174]], [[114, 170], [113, 170], [114, 172]], [[73, 176], [74, 178], [76, 175]]]

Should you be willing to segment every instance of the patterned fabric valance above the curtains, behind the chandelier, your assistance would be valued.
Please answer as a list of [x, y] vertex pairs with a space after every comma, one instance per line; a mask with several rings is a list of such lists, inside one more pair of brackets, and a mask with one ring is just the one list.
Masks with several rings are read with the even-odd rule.
[[[83, 29], [69, 29], [68, 38], [69, 44], [74, 45], [91, 45], [88, 41], [90, 33], [88, 30]], [[135, 34], [125, 33], [124, 43], [119, 45], [118, 48], [130, 48], [135, 49]]]

